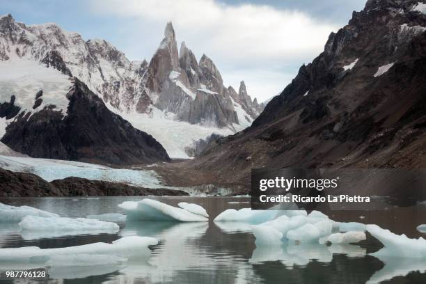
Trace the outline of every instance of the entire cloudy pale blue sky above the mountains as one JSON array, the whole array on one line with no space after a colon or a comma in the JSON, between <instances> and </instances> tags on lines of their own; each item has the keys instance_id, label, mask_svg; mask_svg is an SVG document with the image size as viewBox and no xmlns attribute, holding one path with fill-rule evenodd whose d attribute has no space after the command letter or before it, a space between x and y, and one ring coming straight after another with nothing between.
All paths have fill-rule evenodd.
<instances>
[{"instance_id":1,"label":"entire cloudy pale blue sky above the mountains","mask_svg":"<svg viewBox=\"0 0 426 284\"><path fill-rule=\"evenodd\" d=\"M207 54L224 83L260 102L278 94L324 49L365 0L1 0L0 15L56 22L84 39L102 38L131 60L150 60L172 21L199 59Z\"/></svg>"}]
</instances>

